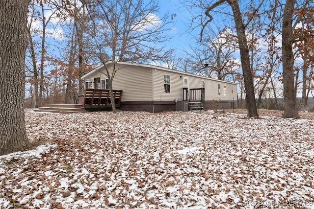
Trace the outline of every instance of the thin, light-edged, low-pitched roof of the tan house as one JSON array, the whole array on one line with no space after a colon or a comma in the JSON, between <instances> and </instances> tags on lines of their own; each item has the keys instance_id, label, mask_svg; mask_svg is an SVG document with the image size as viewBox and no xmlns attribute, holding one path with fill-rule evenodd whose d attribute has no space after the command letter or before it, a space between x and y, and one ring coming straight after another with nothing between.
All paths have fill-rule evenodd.
<instances>
[{"instance_id":1,"label":"thin, light-edged, low-pitched roof of the tan house","mask_svg":"<svg viewBox=\"0 0 314 209\"><path fill-rule=\"evenodd\" d=\"M110 65L110 64L112 64L112 62L108 61L105 64L106 65ZM205 78L205 79L219 81L219 82L223 82L223 83L235 84L235 83L229 82L229 81L218 80L216 78L209 78L209 77L205 77L205 76L202 76L202 75L196 75L196 74L192 74L192 73L188 73L188 72L183 72L183 71L180 71L180 70L171 70L171 69L167 69L167 68L158 67L158 66L155 66L155 65L130 63L130 62L117 62L117 64L118 65L126 65L126 66L138 66L138 67L143 67L143 68L148 68L148 69L164 70L164 71L169 71L169 72L175 72L175 73L178 73L178 74L181 74L181 75L195 76L195 77L199 77L199 78L203 78L203 79ZM85 79L87 76L89 76L90 74L93 74L97 70L102 69L103 67L104 67L104 65L98 66L94 70L91 70L90 72L88 72L85 75L83 75L81 77L81 79Z\"/></svg>"}]
</instances>

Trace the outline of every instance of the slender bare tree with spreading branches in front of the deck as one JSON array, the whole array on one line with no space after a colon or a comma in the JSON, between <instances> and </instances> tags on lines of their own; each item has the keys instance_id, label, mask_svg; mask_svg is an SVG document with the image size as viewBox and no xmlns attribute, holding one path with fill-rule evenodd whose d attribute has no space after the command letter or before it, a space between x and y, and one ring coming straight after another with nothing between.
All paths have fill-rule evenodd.
<instances>
[{"instance_id":1,"label":"slender bare tree with spreading branches in front of the deck","mask_svg":"<svg viewBox=\"0 0 314 209\"><path fill-rule=\"evenodd\" d=\"M168 15L159 18L156 0L96 0L96 6L87 5L92 24L89 25L90 50L105 68L108 79L112 111L115 113L113 79L119 70L117 62L143 63L159 60L163 48L157 47L168 39L164 32L169 28ZM112 68L107 68L107 63Z\"/></svg>"}]
</instances>

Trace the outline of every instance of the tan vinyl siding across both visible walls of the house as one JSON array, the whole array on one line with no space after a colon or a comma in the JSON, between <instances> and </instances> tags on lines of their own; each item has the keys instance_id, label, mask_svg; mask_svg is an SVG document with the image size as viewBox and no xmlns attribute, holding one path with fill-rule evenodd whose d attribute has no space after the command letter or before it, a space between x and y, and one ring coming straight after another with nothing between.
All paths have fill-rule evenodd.
<instances>
[{"instance_id":1,"label":"tan vinyl siding across both visible walls of the house","mask_svg":"<svg viewBox=\"0 0 314 209\"><path fill-rule=\"evenodd\" d=\"M230 101L237 98L237 86L234 83L148 65L119 64L117 66L120 70L113 79L113 89L123 90L122 101L174 101L176 98L182 100L184 78L188 78L189 89L202 88L202 81L204 81L206 101ZM105 79L103 70L104 67L86 74L84 81L94 82L96 77ZM170 93L164 92L164 75L170 76ZM220 95L218 95L218 84L221 86ZM226 95L224 95L224 85L226 85Z\"/></svg>"}]
</instances>

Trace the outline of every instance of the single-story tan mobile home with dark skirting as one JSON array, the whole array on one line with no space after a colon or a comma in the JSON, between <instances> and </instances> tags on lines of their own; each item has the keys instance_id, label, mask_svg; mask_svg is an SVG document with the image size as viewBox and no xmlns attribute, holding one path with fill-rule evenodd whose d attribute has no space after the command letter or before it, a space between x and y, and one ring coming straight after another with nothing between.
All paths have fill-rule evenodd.
<instances>
[{"instance_id":1,"label":"single-story tan mobile home with dark skirting","mask_svg":"<svg viewBox=\"0 0 314 209\"><path fill-rule=\"evenodd\" d=\"M113 63L106 67L112 71ZM123 91L120 110L157 113L176 110L178 102L189 100L201 100L205 109L232 108L237 101L232 82L147 64L118 62L116 69L112 85ZM81 78L85 89L108 89L104 65Z\"/></svg>"}]
</instances>

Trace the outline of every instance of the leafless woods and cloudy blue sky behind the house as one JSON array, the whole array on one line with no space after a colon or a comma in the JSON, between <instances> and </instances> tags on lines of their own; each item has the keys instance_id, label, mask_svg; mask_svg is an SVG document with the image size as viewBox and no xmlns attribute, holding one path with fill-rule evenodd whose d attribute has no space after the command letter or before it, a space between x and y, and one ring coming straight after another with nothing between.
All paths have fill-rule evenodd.
<instances>
[{"instance_id":1,"label":"leafless woods and cloudy blue sky behind the house","mask_svg":"<svg viewBox=\"0 0 314 209\"><path fill-rule=\"evenodd\" d=\"M313 1L287 2L291 3L182 1L181 11L190 14L184 32L190 34L190 46L182 52L171 47L169 32L181 14L160 13L165 10L161 8L163 1L31 0L26 107L69 103L67 92L81 93L83 89L80 76L111 60L157 64L203 75L204 64L209 63L209 76L238 83L240 107L248 103L283 109L278 98L284 93L288 98L291 92L290 97L301 97L294 101L298 110L312 109L308 98L313 96L314 86ZM285 17L290 23L286 33ZM199 35L193 35L195 31ZM291 48L288 57L285 43L288 50ZM288 92L283 86L285 75L289 75ZM109 77L114 82L114 75Z\"/></svg>"}]
</instances>

